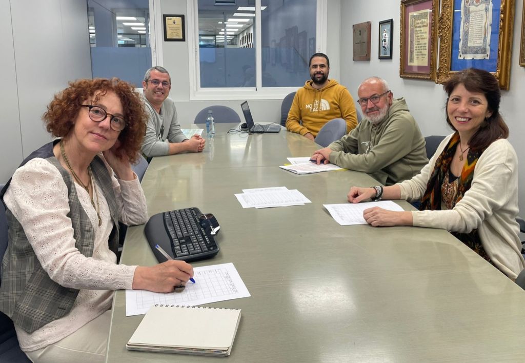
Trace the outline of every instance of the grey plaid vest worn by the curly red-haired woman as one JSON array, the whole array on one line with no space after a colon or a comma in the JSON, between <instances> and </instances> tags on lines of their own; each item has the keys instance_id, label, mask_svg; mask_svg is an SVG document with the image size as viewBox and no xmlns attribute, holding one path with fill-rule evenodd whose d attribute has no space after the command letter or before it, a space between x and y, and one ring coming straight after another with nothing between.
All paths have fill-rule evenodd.
<instances>
[{"instance_id":1,"label":"grey plaid vest worn by the curly red-haired woman","mask_svg":"<svg viewBox=\"0 0 525 363\"><path fill-rule=\"evenodd\" d=\"M31 153L20 164L20 167L31 159L42 158L55 165L60 171L68 189L70 209L68 217L71 219L74 231L75 247L81 254L91 257L95 244L95 230L78 200L77 190L71 175L60 165L53 154L53 146L58 141L45 144ZM111 177L106 165L98 156L91 162L91 171L109 205L113 221L109 248L116 253L119 241L119 214ZM2 201L9 183L10 180L0 192ZM71 310L79 290L61 286L51 280L27 241L22 225L8 209L6 209L6 215L9 226L9 245L2 260L0 310L9 316L16 326L28 333L33 333L51 321L66 315Z\"/></svg>"}]
</instances>

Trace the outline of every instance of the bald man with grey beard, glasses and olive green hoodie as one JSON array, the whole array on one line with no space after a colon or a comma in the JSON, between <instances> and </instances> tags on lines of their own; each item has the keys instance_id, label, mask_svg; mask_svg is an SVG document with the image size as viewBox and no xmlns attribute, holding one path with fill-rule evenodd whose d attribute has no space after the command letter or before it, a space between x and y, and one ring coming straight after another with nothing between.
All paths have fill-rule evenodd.
<instances>
[{"instance_id":1,"label":"bald man with grey beard, glasses and olive green hoodie","mask_svg":"<svg viewBox=\"0 0 525 363\"><path fill-rule=\"evenodd\" d=\"M363 120L342 139L314 152L312 160L365 172L383 185L411 179L428 159L425 139L405 99L394 99L379 77L365 79L358 96Z\"/></svg>"}]
</instances>

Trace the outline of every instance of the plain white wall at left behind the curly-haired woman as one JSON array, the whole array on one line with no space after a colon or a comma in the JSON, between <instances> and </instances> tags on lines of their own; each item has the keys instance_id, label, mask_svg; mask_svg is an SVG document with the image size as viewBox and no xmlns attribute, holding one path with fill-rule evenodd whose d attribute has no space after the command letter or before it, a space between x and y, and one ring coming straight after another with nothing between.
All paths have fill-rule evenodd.
<instances>
[{"instance_id":1,"label":"plain white wall at left behind the curly-haired woman","mask_svg":"<svg viewBox=\"0 0 525 363\"><path fill-rule=\"evenodd\" d=\"M38 22L28 21L28 9ZM41 116L53 95L70 80L91 78L87 23L86 2L0 0L0 182L51 140Z\"/></svg>"}]
</instances>

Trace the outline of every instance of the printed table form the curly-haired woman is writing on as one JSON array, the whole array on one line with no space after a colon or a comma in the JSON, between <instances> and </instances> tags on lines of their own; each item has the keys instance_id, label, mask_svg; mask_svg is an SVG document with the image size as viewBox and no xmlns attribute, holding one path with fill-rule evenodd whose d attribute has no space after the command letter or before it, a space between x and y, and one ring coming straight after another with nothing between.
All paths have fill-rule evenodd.
<instances>
[{"instance_id":1,"label":"printed table form the curly-haired woman is writing on","mask_svg":"<svg viewBox=\"0 0 525 363\"><path fill-rule=\"evenodd\" d=\"M251 296L233 263L195 267L195 284L167 294L126 290L126 316L145 314L155 304L201 305Z\"/></svg>"}]
</instances>

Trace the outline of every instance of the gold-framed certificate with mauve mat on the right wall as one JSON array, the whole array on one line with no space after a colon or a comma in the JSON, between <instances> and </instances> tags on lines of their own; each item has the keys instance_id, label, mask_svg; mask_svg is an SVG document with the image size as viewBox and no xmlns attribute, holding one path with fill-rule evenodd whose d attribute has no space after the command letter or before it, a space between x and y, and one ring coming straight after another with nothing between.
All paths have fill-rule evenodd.
<instances>
[{"instance_id":1,"label":"gold-framed certificate with mauve mat on the right wall","mask_svg":"<svg viewBox=\"0 0 525 363\"><path fill-rule=\"evenodd\" d=\"M435 79L438 10L439 0L401 0L400 77Z\"/></svg>"}]
</instances>

